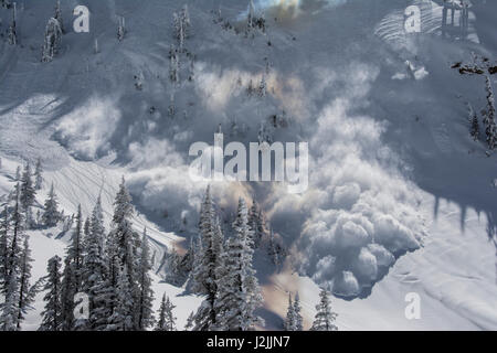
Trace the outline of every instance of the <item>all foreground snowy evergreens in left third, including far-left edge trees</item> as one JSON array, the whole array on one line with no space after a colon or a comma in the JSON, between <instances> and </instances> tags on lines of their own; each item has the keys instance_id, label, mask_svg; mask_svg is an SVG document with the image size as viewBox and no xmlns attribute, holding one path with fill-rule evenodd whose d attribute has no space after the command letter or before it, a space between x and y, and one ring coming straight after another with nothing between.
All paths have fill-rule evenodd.
<instances>
[{"instance_id":1,"label":"all foreground snowy evergreens in left third, including far-left edge trees","mask_svg":"<svg viewBox=\"0 0 497 353\"><path fill-rule=\"evenodd\" d=\"M41 173L41 163L36 170ZM31 227L30 208L43 178L32 175L29 163L19 172L19 181L4 206L0 222L0 330L21 328L34 296L45 291L42 312L43 331L70 330L147 330L155 324L152 315L151 258L146 232L134 229L131 199L125 183L114 203L113 227L106 233L98 199L91 217L83 220L81 206L64 260L49 260L47 275L31 284L31 252L25 231ZM35 178L33 183L32 176ZM45 202L43 222L55 226L61 220L53 185ZM87 317L77 314L82 295L88 298ZM167 301L157 329L173 328L173 306Z\"/></svg>"}]
</instances>

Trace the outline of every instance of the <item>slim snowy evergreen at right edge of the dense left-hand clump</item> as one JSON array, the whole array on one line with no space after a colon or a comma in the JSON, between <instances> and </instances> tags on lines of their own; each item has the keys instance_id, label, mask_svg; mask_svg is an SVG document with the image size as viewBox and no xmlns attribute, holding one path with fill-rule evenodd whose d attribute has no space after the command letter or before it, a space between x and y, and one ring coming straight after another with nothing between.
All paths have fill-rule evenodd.
<instances>
[{"instance_id":1,"label":"slim snowy evergreen at right edge of the dense left-hand clump","mask_svg":"<svg viewBox=\"0 0 497 353\"><path fill-rule=\"evenodd\" d=\"M150 249L148 246L147 231L144 231L141 237L141 248L138 261L138 330L147 330L154 323L154 290L151 289L150 278Z\"/></svg>"}]
</instances>

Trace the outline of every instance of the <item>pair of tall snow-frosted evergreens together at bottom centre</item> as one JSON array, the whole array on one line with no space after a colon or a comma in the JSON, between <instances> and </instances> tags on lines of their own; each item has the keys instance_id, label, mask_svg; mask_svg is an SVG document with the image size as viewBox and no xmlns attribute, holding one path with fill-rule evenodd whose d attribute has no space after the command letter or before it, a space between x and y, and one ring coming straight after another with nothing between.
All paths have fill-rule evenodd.
<instances>
[{"instance_id":1,"label":"pair of tall snow-frosted evergreens together at bottom centre","mask_svg":"<svg viewBox=\"0 0 497 353\"><path fill-rule=\"evenodd\" d=\"M193 331L247 331L262 323L255 314L262 295L252 264L256 238L242 199L232 227L233 235L224 239L208 188L190 276L192 290L205 299L190 317Z\"/></svg>"}]
</instances>

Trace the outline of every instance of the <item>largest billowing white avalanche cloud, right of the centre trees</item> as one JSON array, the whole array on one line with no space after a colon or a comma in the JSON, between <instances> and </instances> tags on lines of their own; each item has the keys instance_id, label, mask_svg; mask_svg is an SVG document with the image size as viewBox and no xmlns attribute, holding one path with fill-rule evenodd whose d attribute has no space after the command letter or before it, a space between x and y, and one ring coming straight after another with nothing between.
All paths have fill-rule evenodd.
<instances>
[{"instance_id":1,"label":"largest billowing white avalanche cloud, right of the centre trees","mask_svg":"<svg viewBox=\"0 0 497 353\"><path fill-rule=\"evenodd\" d=\"M271 200L277 225L304 220L296 246L300 270L345 297L367 291L395 257L421 246L424 232L419 191L382 143L385 125L352 113L367 110L377 75L376 67L355 63L335 76L343 86L316 121L309 191L300 196L275 192Z\"/></svg>"}]
</instances>

